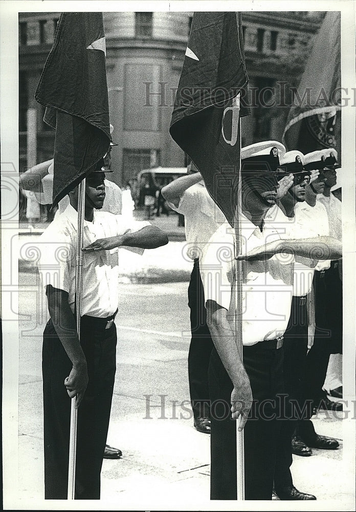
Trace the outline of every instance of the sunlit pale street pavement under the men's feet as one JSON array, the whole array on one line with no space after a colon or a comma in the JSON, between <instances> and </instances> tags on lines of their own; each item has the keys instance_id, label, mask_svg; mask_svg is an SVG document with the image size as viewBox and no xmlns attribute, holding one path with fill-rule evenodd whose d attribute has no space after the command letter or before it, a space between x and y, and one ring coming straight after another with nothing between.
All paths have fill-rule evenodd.
<instances>
[{"instance_id":1,"label":"sunlit pale street pavement under the men's feet","mask_svg":"<svg viewBox=\"0 0 356 512\"><path fill-rule=\"evenodd\" d=\"M175 252L173 244L166 247ZM141 258L151 252L153 259L163 261L164 249L146 251ZM19 273L18 497L27 509L43 496L41 335L48 315L37 280L34 271ZM123 456L103 462L100 509L217 509L208 501L210 436L195 431L189 406L187 287L187 280L128 280L121 285L117 376L107 442L120 448ZM326 412L313 420L318 433L340 440L340 449L314 450L308 458L294 456L292 467L298 489L331 501L313 502L313 508L298 508L302 503L280 507L275 502L274 508L354 509L354 470L343 451L341 416ZM234 510L236 503L224 502L224 507ZM91 508L83 504L83 509Z\"/></svg>"}]
</instances>

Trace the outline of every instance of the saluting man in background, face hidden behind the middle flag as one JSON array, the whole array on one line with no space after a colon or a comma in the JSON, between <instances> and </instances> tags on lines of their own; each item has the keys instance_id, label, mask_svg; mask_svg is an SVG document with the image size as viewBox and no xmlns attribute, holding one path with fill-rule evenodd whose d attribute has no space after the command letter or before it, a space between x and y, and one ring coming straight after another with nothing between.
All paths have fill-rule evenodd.
<instances>
[{"instance_id":1,"label":"saluting man in background, face hidden behind the middle flag","mask_svg":"<svg viewBox=\"0 0 356 512\"><path fill-rule=\"evenodd\" d=\"M188 377L194 426L210 434L210 398L208 368L213 342L207 326L204 289L199 273L199 256L218 226L226 221L210 197L197 168L191 162L187 176L162 188L169 206L185 218L186 256L194 261L188 287L191 342L188 354Z\"/></svg>"}]
</instances>

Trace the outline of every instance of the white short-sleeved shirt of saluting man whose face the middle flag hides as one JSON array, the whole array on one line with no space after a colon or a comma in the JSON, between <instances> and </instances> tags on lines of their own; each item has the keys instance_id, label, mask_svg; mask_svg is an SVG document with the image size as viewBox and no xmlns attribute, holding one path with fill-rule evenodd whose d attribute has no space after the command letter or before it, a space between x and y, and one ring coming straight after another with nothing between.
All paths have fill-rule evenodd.
<instances>
[{"instance_id":1,"label":"white short-sleeved shirt of saluting man whose face the middle flag hides","mask_svg":"<svg viewBox=\"0 0 356 512\"><path fill-rule=\"evenodd\" d=\"M225 215L212 200L203 183L196 183L187 188L178 206L168 204L185 217L185 251L188 258L199 258L212 234L226 222Z\"/></svg>"}]
</instances>

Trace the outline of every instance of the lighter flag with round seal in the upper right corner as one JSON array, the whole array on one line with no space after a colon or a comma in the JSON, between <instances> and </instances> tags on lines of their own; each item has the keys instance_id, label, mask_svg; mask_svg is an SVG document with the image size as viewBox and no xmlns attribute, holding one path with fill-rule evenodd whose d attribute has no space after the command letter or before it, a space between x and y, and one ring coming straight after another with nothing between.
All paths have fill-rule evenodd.
<instances>
[{"instance_id":1,"label":"lighter flag with round seal in the upper right corner","mask_svg":"<svg viewBox=\"0 0 356 512\"><path fill-rule=\"evenodd\" d=\"M283 142L306 154L341 145L340 12L327 12L288 115Z\"/></svg>"}]
</instances>

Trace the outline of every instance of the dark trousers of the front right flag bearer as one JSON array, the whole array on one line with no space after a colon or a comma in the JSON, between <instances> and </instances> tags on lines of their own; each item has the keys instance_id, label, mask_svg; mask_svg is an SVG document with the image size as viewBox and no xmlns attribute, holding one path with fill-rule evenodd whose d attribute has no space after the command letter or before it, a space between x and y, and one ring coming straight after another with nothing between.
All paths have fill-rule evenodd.
<instances>
[{"instance_id":1,"label":"dark trousers of the front right flag bearer","mask_svg":"<svg viewBox=\"0 0 356 512\"><path fill-rule=\"evenodd\" d=\"M274 344L275 347L275 344ZM244 427L246 500L271 500L283 394L283 349L271 342L243 347L253 404ZM231 418L232 382L213 349L209 365L211 399L210 499L236 500L236 420Z\"/></svg>"}]
</instances>

